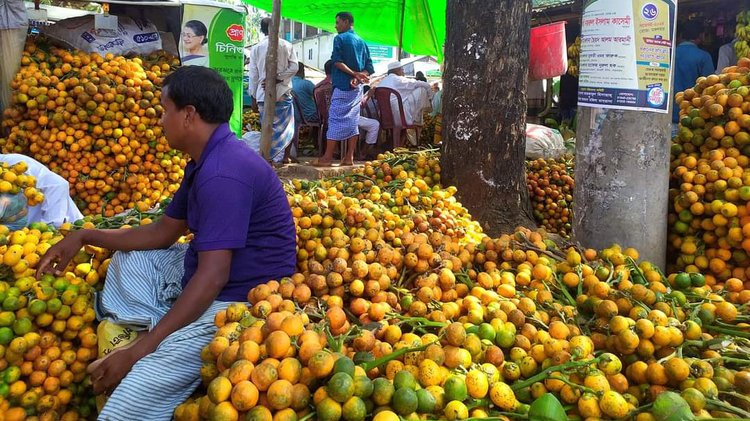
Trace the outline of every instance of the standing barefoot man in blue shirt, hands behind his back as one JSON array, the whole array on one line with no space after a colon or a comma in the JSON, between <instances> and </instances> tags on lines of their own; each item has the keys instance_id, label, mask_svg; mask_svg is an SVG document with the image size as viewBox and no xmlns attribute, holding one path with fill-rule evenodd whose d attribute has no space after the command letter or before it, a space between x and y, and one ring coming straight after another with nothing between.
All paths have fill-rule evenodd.
<instances>
[{"instance_id":1,"label":"standing barefoot man in blue shirt, hands behind his back","mask_svg":"<svg viewBox=\"0 0 750 421\"><path fill-rule=\"evenodd\" d=\"M362 102L362 84L369 82L375 72L367 44L358 37L352 25L354 17L349 12L336 15L336 31L333 39L334 62L331 81L333 94L328 112L328 142L325 154L316 166L330 167L336 144L348 142L346 154L341 156L341 165L354 163L354 149L359 138L359 112Z\"/></svg>"}]
</instances>

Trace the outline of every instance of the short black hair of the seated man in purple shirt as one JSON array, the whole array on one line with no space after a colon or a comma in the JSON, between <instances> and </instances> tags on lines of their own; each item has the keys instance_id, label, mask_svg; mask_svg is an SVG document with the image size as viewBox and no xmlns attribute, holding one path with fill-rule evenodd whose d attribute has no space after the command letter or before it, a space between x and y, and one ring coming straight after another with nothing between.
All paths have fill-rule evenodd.
<instances>
[{"instance_id":1,"label":"short black hair of the seated man in purple shirt","mask_svg":"<svg viewBox=\"0 0 750 421\"><path fill-rule=\"evenodd\" d=\"M208 67L180 67L164 78L162 89L178 109L192 105L206 123L226 123L234 111L227 81Z\"/></svg>"}]
</instances>

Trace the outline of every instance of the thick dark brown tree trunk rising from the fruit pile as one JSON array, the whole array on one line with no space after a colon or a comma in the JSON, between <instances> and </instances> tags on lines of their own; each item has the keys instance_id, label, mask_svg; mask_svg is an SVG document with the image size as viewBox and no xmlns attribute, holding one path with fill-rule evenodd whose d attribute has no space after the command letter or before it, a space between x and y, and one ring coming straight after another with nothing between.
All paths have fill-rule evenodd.
<instances>
[{"instance_id":1,"label":"thick dark brown tree trunk rising from the fruit pile","mask_svg":"<svg viewBox=\"0 0 750 421\"><path fill-rule=\"evenodd\" d=\"M530 0L448 0L444 184L490 235L534 227L526 187Z\"/></svg>"}]
</instances>

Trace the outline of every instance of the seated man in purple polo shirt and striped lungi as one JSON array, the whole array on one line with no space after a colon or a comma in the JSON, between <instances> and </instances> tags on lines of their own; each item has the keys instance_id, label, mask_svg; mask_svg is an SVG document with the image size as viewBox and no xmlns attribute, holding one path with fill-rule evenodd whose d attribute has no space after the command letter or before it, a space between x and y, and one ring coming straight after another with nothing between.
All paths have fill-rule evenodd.
<instances>
[{"instance_id":1,"label":"seated man in purple polo shirt and striped lungi","mask_svg":"<svg viewBox=\"0 0 750 421\"><path fill-rule=\"evenodd\" d=\"M40 275L61 274L84 244L119 250L97 315L145 332L89 367L94 391L111 394L100 419L171 419L200 383L214 315L295 268L286 194L273 169L229 130L224 79L205 67L180 68L164 79L162 105L169 145L192 157L166 214L129 230L73 232L39 264ZM193 241L174 245L187 229Z\"/></svg>"}]
</instances>

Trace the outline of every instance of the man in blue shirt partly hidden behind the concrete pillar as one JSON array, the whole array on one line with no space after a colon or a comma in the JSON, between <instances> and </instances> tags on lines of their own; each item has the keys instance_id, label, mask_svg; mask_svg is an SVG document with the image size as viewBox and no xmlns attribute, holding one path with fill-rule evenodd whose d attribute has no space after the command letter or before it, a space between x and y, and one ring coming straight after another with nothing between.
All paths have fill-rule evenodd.
<instances>
[{"instance_id":1,"label":"man in blue shirt partly hidden behind the concrete pillar","mask_svg":"<svg viewBox=\"0 0 750 421\"><path fill-rule=\"evenodd\" d=\"M675 50L674 58L674 94L695 86L695 80L714 72L711 55L698 48L701 27L698 22L687 21L677 27L680 44ZM680 121L680 104L674 104L672 110L672 131L676 132Z\"/></svg>"}]
</instances>

